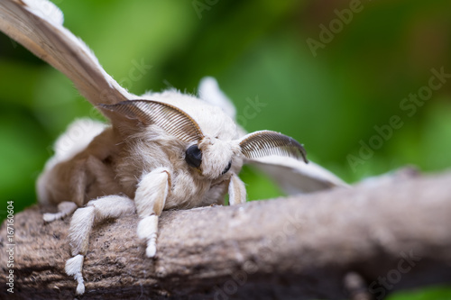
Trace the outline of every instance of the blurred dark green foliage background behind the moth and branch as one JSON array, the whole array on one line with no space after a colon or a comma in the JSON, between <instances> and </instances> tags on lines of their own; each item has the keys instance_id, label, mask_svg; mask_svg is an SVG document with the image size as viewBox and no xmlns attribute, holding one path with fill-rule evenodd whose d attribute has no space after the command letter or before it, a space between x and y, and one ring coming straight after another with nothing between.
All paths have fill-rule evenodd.
<instances>
[{"instance_id":1,"label":"blurred dark green foliage background behind the moth and branch","mask_svg":"<svg viewBox=\"0 0 451 300\"><path fill-rule=\"evenodd\" d=\"M363 1L315 53L308 39L320 42L320 25L339 25L336 10L355 0L54 2L65 25L131 92L174 86L196 93L201 77L216 77L238 115L248 99L265 105L241 118L246 130L296 138L309 159L348 182L408 164L425 172L451 166L451 82L415 114L400 108L428 86L431 68L451 73L448 0ZM136 64L152 68L139 74ZM34 181L52 141L90 109L66 77L0 33L0 194L14 200L16 212L36 202ZM400 129L370 159L351 165L349 155L359 158L361 143L378 134L374 126L393 115ZM251 200L281 195L251 168L242 177ZM451 298L441 291L434 293Z\"/></svg>"}]
</instances>

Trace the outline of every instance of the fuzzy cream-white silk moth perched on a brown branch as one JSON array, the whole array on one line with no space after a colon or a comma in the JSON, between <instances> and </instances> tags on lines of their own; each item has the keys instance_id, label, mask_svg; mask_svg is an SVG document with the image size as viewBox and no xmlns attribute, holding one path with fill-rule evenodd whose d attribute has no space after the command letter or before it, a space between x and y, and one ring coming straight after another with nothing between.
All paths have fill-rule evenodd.
<instances>
[{"instance_id":1,"label":"fuzzy cream-white silk moth perched on a brown branch","mask_svg":"<svg viewBox=\"0 0 451 300\"><path fill-rule=\"evenodd\" d=\"M81 120L61 139L86 127L82 141L46 163L37 180L41 204L58 205L46 222L72 214L71 258L65 270L78 295L85 292L83 260L95 223L136 214L145 254L156 254L158 218L165 209L246 201L238 173L253 164L290 194L345 183L309 162L298 141L279 132L246 134L235 107L207 77L198 96L176 90L133 95L106 74L87 46L63 27L63 14L47 0L2 0L0 30L65 74L109 124Z\"/></svg>"}]
</instances>

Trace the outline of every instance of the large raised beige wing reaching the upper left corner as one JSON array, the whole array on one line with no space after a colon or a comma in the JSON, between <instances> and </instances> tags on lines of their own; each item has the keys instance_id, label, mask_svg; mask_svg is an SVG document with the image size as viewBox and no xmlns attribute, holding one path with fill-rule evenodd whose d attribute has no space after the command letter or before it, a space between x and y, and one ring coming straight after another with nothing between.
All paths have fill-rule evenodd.
<instances>
[{"instance_id":1,"label":"large raised beige wing reaching the upper left corner","mask_svg":"<svg viewBox=\"0 0 451 300\"><path fill-rule=\"evenodd\" d=\"M60 70L93 105L136 96L106 74L87 45L63 27L63 14L47 0L1 0L0 31Z\"/></svg>"}]
</instances>

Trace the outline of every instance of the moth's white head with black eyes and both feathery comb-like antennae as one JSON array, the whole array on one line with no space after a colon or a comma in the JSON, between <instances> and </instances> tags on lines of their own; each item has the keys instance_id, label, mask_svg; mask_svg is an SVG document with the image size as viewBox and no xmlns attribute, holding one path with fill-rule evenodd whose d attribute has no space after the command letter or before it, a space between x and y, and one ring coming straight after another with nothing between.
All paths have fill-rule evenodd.
<instances>
[{"instance_id":1,"label":"moth's white head with black eyes and both feathery comb-like antennae","mask_svg":"<svg viewBox=\"0 0 451 300\"><path fill-rule=\"evenodd\" d=\"M240 140L224 141L204 134L189 114L166 103L130 100L100 107L137 120L146 126L156 125L182 141L181 144L185 147L182 156L187 166L210 179L225 175L231 168L241 168L243 159L277 155L303 159L307 162L302 145L279 132L253 132Z\"/></svg>"}]
</instances>

